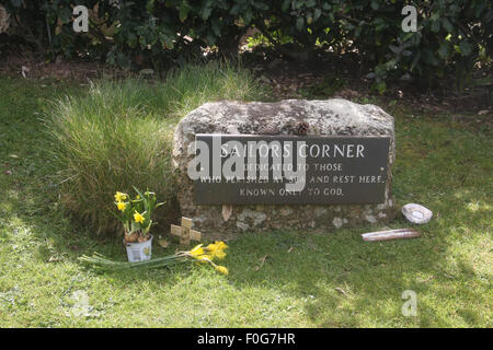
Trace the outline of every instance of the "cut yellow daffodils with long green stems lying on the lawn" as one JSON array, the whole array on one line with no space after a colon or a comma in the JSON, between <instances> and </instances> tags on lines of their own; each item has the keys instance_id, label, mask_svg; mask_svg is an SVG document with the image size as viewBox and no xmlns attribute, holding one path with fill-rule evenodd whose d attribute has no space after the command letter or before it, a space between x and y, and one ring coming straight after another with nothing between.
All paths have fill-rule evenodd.
<instances>
[{"instance_id":1,"label":"cut yellow daffodils with long green stems lying on the lawn","mask_svg":"<svg viewBox=\"0 0 493 350\"><path fill-rule=\"evenodd\" d=\"M227 248L228 246L225 242L215 242L206 247L204 247L203 244L199 244L191 250L176 252L173 255L138 262L113 261L96 253L91 257L83 255L79 259L99 270L160 268L169 267L177 262L196 261L200 264L210 264L219 273L228 275L228 268L214 262L214 260L222 260L226 257L225 250Z\"/></svg>"}]
</instances>

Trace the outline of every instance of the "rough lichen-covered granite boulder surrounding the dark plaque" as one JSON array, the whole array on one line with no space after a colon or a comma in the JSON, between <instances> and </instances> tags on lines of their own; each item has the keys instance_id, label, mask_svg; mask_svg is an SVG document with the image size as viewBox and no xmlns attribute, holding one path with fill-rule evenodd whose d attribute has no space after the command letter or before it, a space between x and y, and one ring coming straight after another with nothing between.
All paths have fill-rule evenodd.
<instances>
[{"instance_id":1,"label":"rough lichen-covered granite boulder surrounding the dark plaque","mask_svg":"<svg viewBox=\"0 0 493 350\"><path fill-rule=\"evenodd\" d=\"M306 121L308 135L390 137L385 201L375 205L232 205L225 221L221 206L193 203L193 182L187 176L188 144L197 133L293 135L294 125ZM394 161L393 118L375 105L346 100L286 100L276 103L221 101L191 112L174 132L173 165L177 199L184 217L207 238L234 237L242 232L274 229L336 230L360 223L386 222L394 214L391 166ZM229 208L226 208L229 209ZM226 210L228 212L228 210Z\"/></svg>"}]
</instances>

